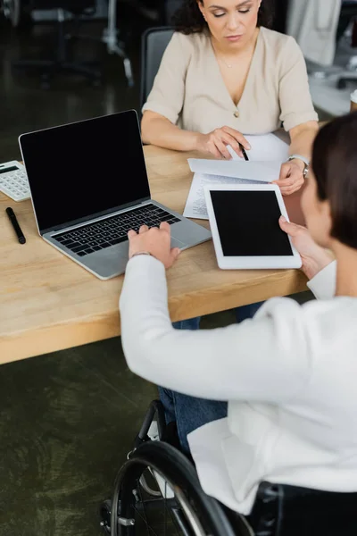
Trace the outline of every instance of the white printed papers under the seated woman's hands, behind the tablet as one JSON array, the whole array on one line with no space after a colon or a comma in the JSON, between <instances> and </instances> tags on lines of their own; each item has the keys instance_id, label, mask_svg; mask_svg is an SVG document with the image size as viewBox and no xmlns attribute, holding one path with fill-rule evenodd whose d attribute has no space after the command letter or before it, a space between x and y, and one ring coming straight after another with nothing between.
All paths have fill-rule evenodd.
<instances>
[{"instance_id":1,"label":"white printed papers under the seated woman's hands, behind the tablet","mask_svg":"<svg viewBox=\"0 0 357 536\"><path fill-rule=\"evenodd\" d=\"M189 158L194 178L187 197L184 216L208 220L203 187L206 184L258 183L278 180L281 163L288 156L287 144L274 134L245 136L252 149L247 151L249 162L242 160L228 146L232 160Z\"/></svg>"}]
</instances>

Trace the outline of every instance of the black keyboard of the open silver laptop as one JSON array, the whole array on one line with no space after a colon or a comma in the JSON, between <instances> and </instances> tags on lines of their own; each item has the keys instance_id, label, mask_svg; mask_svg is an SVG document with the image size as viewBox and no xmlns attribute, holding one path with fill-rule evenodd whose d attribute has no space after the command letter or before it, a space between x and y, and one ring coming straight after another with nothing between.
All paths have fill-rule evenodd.
<instances>
[{"instance_id":1,"label":"black keyboard of the open silver laptop","mask_svg":"<svg viewBox=\"0 0 357 536\"><path fill-rule=\"evenodd\" d=\"M145 205L100 222L68 230L52 238L71 249L73 253L84 256L128 240L130 229L138 231L141 225L158 227L161 222L168 222L171 225L180 220L159 206Z\"/></svg>"}]
</instances>

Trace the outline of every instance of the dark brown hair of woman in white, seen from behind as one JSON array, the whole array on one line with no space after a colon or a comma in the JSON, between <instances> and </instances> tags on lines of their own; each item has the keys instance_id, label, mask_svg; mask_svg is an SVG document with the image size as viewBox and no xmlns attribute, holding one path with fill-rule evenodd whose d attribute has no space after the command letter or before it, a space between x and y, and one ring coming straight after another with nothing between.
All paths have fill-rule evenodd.
<instances>
[{"instance_id":1,"label":"dark brown hair of woman in white, seen from behind","mask_svg":"<svg viewBox=\"0 0 357 536\"><path fill-rule=\"evenodd\" d=\"M311 166L320 201L331 206L331 236L357 249L357 112L328 122L315 138Z\"/></svg>"}]
</instances>

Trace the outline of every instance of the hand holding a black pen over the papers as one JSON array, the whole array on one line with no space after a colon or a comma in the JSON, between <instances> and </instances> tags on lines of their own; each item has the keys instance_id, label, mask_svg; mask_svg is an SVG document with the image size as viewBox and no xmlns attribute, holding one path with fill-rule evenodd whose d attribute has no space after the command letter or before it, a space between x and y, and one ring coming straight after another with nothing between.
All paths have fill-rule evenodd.
<instances>
[{"instance_id":1,"label":"hand holding a black pen over the papers","mask_svg":"<svg viewBox=\"0 0 357 536\"><path fill-rule=\"evenodd\" d=\"M238 156L244 158L241 144L245 149L249 150L251 146L240 132L230 127L222 127L221 129L212 130L208 134L199 134L197 138L197 150L202 153L209 153L216 158L224 158L231 160L227 146L229 145L237 153Z\"/></svg>"}]
</instances>

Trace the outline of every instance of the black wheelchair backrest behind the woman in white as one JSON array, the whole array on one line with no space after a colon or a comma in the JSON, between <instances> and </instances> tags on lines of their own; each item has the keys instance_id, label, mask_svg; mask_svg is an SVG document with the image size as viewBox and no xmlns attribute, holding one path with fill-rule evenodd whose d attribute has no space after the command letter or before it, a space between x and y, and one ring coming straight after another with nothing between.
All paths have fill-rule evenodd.
<instances>
[{"instance_id":1,"label":"black wheelchair backrest behind the woman in white","mask_svg":"<svg viewBox=\"0 0 357 536\"><path fill-rule=\"evenodd\" d=\"M255 536L357 534L357 493L262 482L249 522Z\"/></svg>"}]
</instances>

